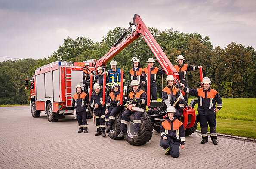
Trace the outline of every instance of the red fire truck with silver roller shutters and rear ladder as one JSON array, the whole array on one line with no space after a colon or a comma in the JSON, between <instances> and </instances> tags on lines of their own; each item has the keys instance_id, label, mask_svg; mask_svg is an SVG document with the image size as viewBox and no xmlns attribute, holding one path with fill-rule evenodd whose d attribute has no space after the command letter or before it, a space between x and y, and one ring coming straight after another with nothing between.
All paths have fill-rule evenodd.
<instances>
[{"instance_id":1,"label":"red fire truck with silver roller shutters and rear ladder","mask_svg":"<svg viewBox=\"0 0 256 169\"><path fill-rule=\"evenodd\" d=\"M94 69L95 60L88 60L90 69ZM74 114L72 96L76 92L76 84L82 85L82 72L86 62L56 61L35 70L31 78L30 105L33 117L39 117L45 111L49 122L57 122L66 115ZM26 79L26 88L28 88ZM89 108L90 109L90 108ZM87 110L87 117L92 117L92 111Z\"/></svg>"}]
</instances>

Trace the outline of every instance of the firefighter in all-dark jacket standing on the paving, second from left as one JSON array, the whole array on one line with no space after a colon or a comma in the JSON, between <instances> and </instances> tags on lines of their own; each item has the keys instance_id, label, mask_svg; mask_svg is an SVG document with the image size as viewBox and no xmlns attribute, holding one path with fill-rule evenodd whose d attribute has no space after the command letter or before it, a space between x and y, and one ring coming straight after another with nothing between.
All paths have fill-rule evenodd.
<instances>
[{"instance_id":1,"label":"firefighter in all-dark jacket standing on the paving, second from left","mask_svg":"<svg viewBox=\"0 0 256 169\"><path fill-rule=\"evenodd\" d=\"M95 121L96 121L95 125L97 128L97 133L95 133L95 136L102 135L102 137L106 137L106 133L105 133L105 130L106 130L105 109L106 109L106 107L105 107L105 104L103 104L103 92L102 92L102 89L100 89L100 86L98 83L95 83L93 85L93 89L94 89L94 92L90 97L89 104L91 107L93 107L93 112L94 112Z\"/></svg>"}]
</instances>

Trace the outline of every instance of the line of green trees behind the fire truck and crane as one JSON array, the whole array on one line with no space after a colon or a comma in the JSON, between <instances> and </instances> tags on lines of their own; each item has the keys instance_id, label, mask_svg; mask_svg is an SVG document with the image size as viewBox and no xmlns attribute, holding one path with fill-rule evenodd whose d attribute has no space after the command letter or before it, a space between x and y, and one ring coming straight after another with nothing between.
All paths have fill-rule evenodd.
<instances>
[{"instance_id":1,"label":"line of green trees behind the fire truck and crane","mask_svg":"<svg viewBox=\"0 0 256 169\"><path fill-rule=\"evenodd\" d=\"M204 77L211 79L211 87L216 89L222 98L256 96L256 86L253 85L256 84L256 50L253 47L245 47L234 42L224 48L213 47L208 36L203 38L198 33L180 33L173 29L160 31L157 28L149 28L149 30L173 65L177 64L176 57L179 54L185 57L185 64L202 65ZM44 59L30 58L0 62L0 104L28 104L30 92L25 89L24 80L27 76L34 75L36 68L59 59L73 62L100 59L108 53L124 31L125 28L116 27L108 31L101 42L94 42L83 36L77 39L68 37L56 52ZM130 59L134 56L140 59L142 68L147 66L149 57L154 58L142 36L113 58L117 61L117 68L123 69L126 77L130 77L129 70L133 67ZM161 68L157 61L156 67ZM106 68L110 69L109 64ZM160 97L161 76L158 77L157 85ZM188 72L188 86L197 88L200 87L199 85L199 71Z\"/></svg>"}]
</instances>

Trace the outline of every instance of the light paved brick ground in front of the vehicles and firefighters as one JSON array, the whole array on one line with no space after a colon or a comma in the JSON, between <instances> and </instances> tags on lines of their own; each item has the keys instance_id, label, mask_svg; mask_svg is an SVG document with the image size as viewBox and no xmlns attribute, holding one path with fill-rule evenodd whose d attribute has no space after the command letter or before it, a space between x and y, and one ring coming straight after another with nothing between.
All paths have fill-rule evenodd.
<instances>
[{"instance_id":1,"label":"light paved brick ground in front of the vehicles and firefighters","mask_svg":"<svg viewBox=\"0 0 256 169\"><path fill-rule=\"evenodd\" d=\"M218 137L219 145L201 145L201 136L186 137L185 149L174 159L164 155L160 133L142 146L125 140L77 133L73 116L50 123L33 118L29 106L0 107L0 168L256 168L256 142Z\"/></svg>"}]
</instances>

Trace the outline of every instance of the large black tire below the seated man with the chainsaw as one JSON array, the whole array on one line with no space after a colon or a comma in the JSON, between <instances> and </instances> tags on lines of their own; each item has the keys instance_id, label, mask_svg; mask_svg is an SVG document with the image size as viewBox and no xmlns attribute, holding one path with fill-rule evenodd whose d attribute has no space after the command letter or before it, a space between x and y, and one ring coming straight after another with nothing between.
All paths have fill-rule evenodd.
<instances>
[{"instance_id":1,"label":"large black tire below the seated man with the chainsaw","mask_svg":"<svg viewBox=\"0 0 256 169\"><path fill-rule=\"evenodd\" d=\"M127 142L129 142L131 145L144 145L152 137L153 133L153 126L148 118L148 116L144 113L142 114L141 117L141 125L140 125L140 132L136 138L133 138L133 117L134 115L132 114L130 116L129 122L127 124L127 135L124 136Z\"/></svg>"}]
</instances>

